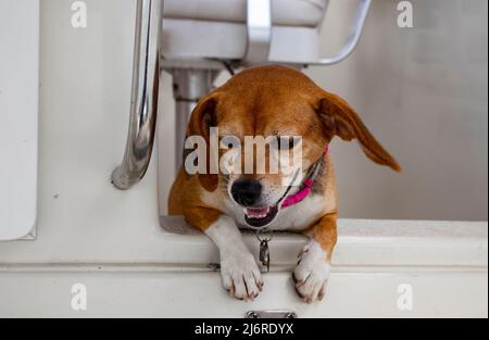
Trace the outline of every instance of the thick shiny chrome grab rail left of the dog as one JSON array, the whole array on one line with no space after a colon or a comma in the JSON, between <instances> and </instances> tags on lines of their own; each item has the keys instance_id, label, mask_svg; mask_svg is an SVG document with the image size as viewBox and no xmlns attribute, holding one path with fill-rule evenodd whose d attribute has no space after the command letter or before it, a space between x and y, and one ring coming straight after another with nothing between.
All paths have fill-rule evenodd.
<instances>
[{"instance_id":1,"label":"thick shiny chrome grab rail left of the dog","mask_svg":"<svg viewBox=\"0 0 489 340\"><path fill-rule=\"evenodd\" d=\"M151 160L158 111L163 0L138 0L129 131L112 184L127 190L145 176Z\"/></svg>"}]
</instances>

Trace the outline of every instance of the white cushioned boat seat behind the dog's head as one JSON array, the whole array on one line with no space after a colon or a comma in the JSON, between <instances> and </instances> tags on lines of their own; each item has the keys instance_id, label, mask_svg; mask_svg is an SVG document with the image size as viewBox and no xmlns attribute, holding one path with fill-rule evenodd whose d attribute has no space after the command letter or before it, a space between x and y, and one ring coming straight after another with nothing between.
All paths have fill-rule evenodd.
<instances>
[{"instance_id":1,"label":"white cushioned boat seat behind the dog's head","mask_svg":"<svg viewBox=\"0 0 489 340\"><path fill-rule=\"evenodd\" d=\"M273 0L268 61L318 60L317 27L327 3L328 0ZM181 60L241 60L247 46L247 0L165 1L163 56L168 64Z\"/></svg>"}]
</instances>

